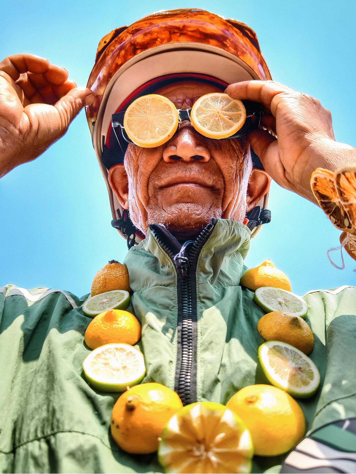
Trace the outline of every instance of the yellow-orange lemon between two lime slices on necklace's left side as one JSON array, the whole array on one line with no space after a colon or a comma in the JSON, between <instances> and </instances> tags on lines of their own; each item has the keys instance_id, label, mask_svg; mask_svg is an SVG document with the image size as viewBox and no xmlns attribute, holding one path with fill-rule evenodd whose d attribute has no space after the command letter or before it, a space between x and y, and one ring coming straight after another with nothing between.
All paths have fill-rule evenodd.
<instances>
[{"instance_id":1,"label":"yellow-orange lemon between two lime slices on necklace's left side","mask_svg":"<svg viewBox=\"0 0 356 474\"><path fill-rule=\"evenodd\" d=\"M104 344L133 346L141 337L141 324L129 311L108 310L98 314L86 328L84 341L91 349Z\"/></svg>"}]
</instances>

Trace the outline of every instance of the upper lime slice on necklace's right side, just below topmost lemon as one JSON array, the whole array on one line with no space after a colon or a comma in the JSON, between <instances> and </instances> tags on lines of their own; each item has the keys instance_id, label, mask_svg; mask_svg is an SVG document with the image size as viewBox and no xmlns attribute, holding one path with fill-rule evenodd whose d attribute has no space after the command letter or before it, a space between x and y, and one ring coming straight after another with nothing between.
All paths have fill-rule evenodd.
<instances>
[{"instance_id":1,"label":"upper lime slice on necklace's right side, just below topmost lemon","mask_svg":"<svg viewBox=\"0 0 356 474\"><path fill-rule=\"evenodd\" d=\"M255 291L253 299L266 313L287 311L303 319L307 317L307 303L300 296L281 290L281 288L262 286Z\"/></svg>"}]
</instances>

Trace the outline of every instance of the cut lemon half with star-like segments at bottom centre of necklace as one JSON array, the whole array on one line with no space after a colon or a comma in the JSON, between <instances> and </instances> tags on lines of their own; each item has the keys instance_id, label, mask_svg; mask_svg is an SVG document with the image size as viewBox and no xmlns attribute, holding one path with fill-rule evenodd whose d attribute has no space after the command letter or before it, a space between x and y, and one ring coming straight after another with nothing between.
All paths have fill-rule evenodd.
<instances>
[{"instance_id":1,"label":"cut lemon half with star-like segments at bottom centre of necklace","mask_svg":"<svg viewBox=\"0 0 356 474\"><path fill-rule=\"evenodd\" d=\"M224 405L187 405L162 431L159 462L166 473L249 473L253 444L243 421Z\"/></svg>"}]
</instances>

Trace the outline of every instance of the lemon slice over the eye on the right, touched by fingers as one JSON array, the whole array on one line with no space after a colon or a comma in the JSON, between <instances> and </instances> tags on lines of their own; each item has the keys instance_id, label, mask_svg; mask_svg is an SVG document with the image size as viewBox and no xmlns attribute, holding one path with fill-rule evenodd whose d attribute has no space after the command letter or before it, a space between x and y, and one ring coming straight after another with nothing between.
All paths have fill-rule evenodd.
<instances>
[{"instance_id":1,"label":"lemon slice over the eye on the right, touched by fingers","mask_svg":"<svg viewBox=\"0 0 356 474\"><path fill-rule=\"evenodd\" d=\"M208 138L228 138L244 125L246 109L241 100L213 92L200 97L190 111L197 132Z\"/></svg>"}]
</instances>

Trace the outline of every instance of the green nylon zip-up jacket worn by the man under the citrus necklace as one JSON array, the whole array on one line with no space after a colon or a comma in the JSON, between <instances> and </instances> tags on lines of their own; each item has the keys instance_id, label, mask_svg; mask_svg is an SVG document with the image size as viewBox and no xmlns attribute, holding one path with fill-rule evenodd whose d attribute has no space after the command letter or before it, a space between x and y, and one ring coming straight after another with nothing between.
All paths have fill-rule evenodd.
<instances>
[{"instance_id":1,"label":"green nylon zip-up jacket worn by the man under the citrus necklace","mask_svg":"<svg viewBox=\"0 0 356 474\"><path fill-rule=\"evenodd\" d=\"M224 404L242 387L266 383L257 356L263 312L239 285L249 244L246 226L219 219L182 251L159 225L131 248L128 310L142 324L143 382L162 383L185 403ZM0 288L1 472L162 472L155 454L116 446L110 416L119 394L84 380L87 296ZM310 357L321 375L314 397L300 401L310 430L356 416L356 288L309 292L304 300L315 340ZM253 472L285 456L255 456Z\"/></svg>"}]
</instances>

